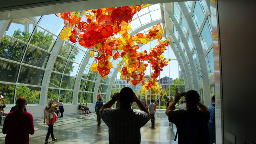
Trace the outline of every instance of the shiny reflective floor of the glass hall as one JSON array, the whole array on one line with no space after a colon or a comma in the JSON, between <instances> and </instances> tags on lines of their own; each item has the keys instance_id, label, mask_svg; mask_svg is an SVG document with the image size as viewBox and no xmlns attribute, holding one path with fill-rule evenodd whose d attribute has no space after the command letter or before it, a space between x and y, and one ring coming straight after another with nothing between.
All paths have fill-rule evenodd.
<instances>
[{"instance_id":1,"label":"shiny reflective floor of the glass hall","mask_svg":"<svg viewBox=\"0 0 256 144\"><path fill-rule=\"evenodd\" d=\"M102 120L101 120L102 121ZM108 127L102 121L97 126L96 113L89 115L69 115L58 118L54 125L54 137L57 141L52 144L108 144ZM151 122L148 121L141 128L141 144L178 144L174 141L176 126L168 122L165 111L158 110L155 116L155 128L150 128ZM48 126L44 126L43 119L34 120L35 133L29 135L30 144L44 143ZM2 125L0 126L2 131ZM5 135L0 133L0 143L4 141ZM51 136L49 138L51 141Z\"/></svg>"}]
</instances>

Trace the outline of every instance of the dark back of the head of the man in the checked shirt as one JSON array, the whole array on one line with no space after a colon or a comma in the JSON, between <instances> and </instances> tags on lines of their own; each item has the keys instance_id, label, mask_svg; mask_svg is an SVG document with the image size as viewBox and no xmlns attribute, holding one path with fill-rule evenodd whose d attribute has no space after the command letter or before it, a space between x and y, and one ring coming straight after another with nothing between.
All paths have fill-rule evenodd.
<instances>
[{"instance_id":1,"label":"dark back of the head of the man in the checked shirt","mask_svg":"<svg viewBox=\"0 0 256 144\"><path fill-rule=\"evenodd\" d=\"M129 87L124 87L121 89L119 94L119 101L123 105L129 105L133 102L133 91Z\"/></svg>"}]
</instances>

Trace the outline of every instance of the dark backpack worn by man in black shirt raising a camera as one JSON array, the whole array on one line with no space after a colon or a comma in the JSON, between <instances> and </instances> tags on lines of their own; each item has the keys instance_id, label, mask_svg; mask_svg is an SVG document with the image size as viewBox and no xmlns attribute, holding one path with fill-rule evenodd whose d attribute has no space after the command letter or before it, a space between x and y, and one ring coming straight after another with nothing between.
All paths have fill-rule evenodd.
<instances>
[{"instance_id":1,"label":"dark backpack worn by man in black shirt raising a camera","mask_svg":"<svg viewBox=\"0 0 256 144\"><path fill-rule=\"evenodd\" d=\"M188 119L184 126L184 137L183 137L184 144L192 144L196 137L200 137L200 139L204 137L206 140L205 144L209 144L210 136L209 136L209 129L208 129L207 123L208 122L206 122L203 119L203 122L201 122L201 124L203 125L203 130L201 131L200 135L197 135L197 133L198 132L200 133L200 131L198 131L196 125L192 123L190 119ZM176 141L177 139L177 134L178 134L178 131L176 132L174 141Z\"/></svg>"}]
</instances>

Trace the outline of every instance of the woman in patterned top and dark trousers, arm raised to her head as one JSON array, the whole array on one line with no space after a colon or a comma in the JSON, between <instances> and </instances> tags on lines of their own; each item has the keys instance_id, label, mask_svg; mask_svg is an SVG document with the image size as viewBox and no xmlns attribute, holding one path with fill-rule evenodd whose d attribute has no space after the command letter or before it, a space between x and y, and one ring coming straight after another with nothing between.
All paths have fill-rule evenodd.
<instances>
[{"instance_id":1,"label":"woman in patterned top and dark trousers, arm raised to her head","mask_svg":"<svg viewBox=\"0 0 256 144\"><path fill-rule=\"evenodd\" d=\"M57 104L52 105L54 100L57 102ZM54 138L54 135L53 135L53 124L54 124L54 122L56 123L57 119L54 118L53 120L51 120L50 113L52 113L54 111L54 109L57 106L59 106L59 104L60 104L60 102L56 99L48 99L47 100L47 106L44 109L44 123L46 122L46 124L48 125L48 131L47 131L45 142L44 142L45 144L50 143L48 141L50 134L52 137L52 141L57 140L57 138Z\"/></svg>"}]
</instances>

